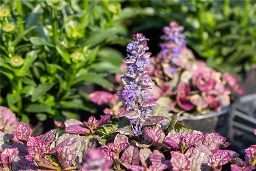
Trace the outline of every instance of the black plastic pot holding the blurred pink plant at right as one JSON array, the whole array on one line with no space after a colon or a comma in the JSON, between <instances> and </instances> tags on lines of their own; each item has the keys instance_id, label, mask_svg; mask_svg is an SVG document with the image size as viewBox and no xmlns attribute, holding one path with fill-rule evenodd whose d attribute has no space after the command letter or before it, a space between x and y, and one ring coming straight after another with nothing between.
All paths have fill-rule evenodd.
<instances>
[{"instance_id":1,"label":"black plastic pot holding the blurred pink plant at right","mask_svg":"<svg viewBox=\"0 0 256 171\"><path fill-rule=\"evenodd\" d=\"M231 107L224 108L220 112L210 112L203 115L191 115L179 117L180 123L192 127L194 130L201 131L204 134L217 132L223 134L228 128L226 120Z\"/></svg>"}]
</instances>

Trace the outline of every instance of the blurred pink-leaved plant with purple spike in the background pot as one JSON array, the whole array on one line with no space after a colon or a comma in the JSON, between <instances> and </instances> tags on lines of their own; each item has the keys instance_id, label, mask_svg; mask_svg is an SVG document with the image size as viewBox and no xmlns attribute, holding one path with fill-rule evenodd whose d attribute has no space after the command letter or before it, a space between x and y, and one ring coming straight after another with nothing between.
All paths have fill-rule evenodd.
<instances>
[{"instance_id":1,"label":"blurred pink-leaved plant with purple spike in the background pot","mask_svg":"<svg viewBox=\"0 0 256 171\"><path fill-rule=\"evenodd\" d=\"M178 46L184 35L177 23L170 22L164 33L168 41L161 44L162 50L152 58L156 85L149 90L160 106L174 113L208 113L228 107L236 93L244 93L236 76L206 66L185 45Z\"/></svg>"}]
</instances>

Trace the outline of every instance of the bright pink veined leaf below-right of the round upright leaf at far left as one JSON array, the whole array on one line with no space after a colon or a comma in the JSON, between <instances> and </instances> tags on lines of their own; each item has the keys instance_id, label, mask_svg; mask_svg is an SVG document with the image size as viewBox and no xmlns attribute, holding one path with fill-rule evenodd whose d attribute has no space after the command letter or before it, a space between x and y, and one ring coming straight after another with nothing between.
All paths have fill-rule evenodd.
<instances>
[{"instance_id":1,"label":"bright pink veined leaf below-right of the round upright leaf at far left","mask_svg":"<svg viewBox=\"0 0 256 171\"><path fill-rule=\"evenodd\" d=\"M40 137L30 137L27 142L27 150L32 158L44 157L44 154L50 151L50 144L42 141Z\"/></svg>"}]
</instances>

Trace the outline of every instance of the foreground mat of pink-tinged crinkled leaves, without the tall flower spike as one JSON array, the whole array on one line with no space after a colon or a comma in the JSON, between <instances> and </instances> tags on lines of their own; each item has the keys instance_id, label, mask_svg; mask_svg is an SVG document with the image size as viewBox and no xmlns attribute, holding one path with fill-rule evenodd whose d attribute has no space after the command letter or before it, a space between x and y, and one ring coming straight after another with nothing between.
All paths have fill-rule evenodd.
<instances>
[{"instance_id":1,"label":"foreground mat of pink-tinged crinkled leaves, without the tall flower spike","mask_svg":"<svg viewBox=\"0 0 256 171\"><path fill-rule=\"evenodd\" d=\"M255 145L245 150L243 161L238 153L223 149L229 143L217 133L203 134L176 121L171 121L167 129L158 123L145 125L138 136L125 116L106 115L100 120L92 117L83 122L69 119L58 125L62 131L51 130L36 137L30 136L27 124L16 123L11 145L0 152L0 167L14 171L196 171L221 170L231 163L233 171L255 168Z\"/></svg>"}]
</instances>

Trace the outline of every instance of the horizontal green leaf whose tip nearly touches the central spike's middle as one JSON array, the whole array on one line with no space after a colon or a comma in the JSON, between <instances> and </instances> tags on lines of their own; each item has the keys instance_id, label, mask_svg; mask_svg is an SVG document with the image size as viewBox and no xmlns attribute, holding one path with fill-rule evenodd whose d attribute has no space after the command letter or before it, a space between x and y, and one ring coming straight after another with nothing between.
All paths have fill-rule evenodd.
<instances>
[{"instance_id":1,"label":"horizontal green leaf whose tip nearly touches the central spike's middle","mask_svg":"<svg viewBox=\"0 0 256 171\"><path fill-rule=\"evenodd\" d=\"M119 66L113 65L112 63L105 62L105 61L92 64L88 68L94 69L94 70L96 70L98 72L108 72L110 74L123 73L124 72L122 69L120 69Z\"/></svg>"}]
</instances>

